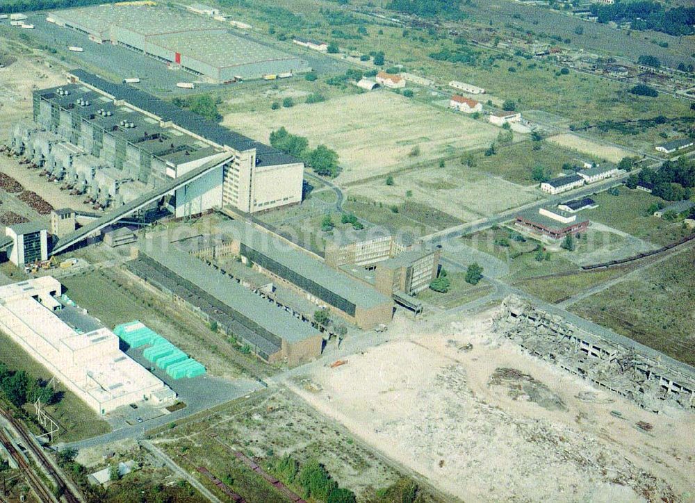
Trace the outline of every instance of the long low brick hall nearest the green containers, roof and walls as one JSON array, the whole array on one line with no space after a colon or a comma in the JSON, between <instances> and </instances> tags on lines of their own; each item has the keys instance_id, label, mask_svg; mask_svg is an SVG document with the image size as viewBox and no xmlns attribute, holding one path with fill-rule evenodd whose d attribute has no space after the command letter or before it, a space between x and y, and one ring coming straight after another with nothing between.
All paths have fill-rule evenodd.
<instances>
[{"instance_id":1,"label":"long low brick hall nearest the green containers, roof and walls","mask_svg":"<svg viewBox=\"0 0 695 503\"><path fill-rule=\"evenodd\" d=\"M234 334L265 361L295 364L320 356L323 336L291 313L241 286L224 272L174 245L145 241L129 269L195 311L218 330Z\"/></svg>"}]
</instances>

